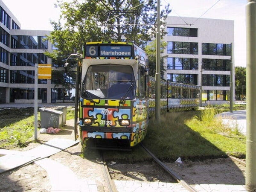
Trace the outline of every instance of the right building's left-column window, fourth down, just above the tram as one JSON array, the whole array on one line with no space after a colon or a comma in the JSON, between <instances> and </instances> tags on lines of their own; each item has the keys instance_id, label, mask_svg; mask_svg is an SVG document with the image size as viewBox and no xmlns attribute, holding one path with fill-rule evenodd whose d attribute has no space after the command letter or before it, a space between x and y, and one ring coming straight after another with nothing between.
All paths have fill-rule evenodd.
<instances>
[{"instance_id":1,"label":"right building's left-column window, fourth down, just above the tram","mask_svg":"<svg viewBox=\"0 0 256 192\"><path fill-rule=\"evenodd\" d=\"M167 74L167 81L186 84L197 84L196 74Z\"/></svg>"}]
</instances>

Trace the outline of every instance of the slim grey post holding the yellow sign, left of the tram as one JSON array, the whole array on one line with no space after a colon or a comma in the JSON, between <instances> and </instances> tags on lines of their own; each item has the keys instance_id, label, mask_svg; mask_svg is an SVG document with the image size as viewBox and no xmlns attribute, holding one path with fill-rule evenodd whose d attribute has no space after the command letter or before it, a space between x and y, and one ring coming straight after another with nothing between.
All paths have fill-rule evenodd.
<instances>
[{"instance_id":1,"label":"slim grey post holding the yellow sign, left of the tram","mask_svg":"<svg viewBox=\"0 0 256 192\"><path fill-rule=\"evenodd\" d=\"M37 140L37 128L38 128L38 64L35 64L35 90L34 90L34 116L35 116L35 140Z\"/></svg>"}]
</instances>

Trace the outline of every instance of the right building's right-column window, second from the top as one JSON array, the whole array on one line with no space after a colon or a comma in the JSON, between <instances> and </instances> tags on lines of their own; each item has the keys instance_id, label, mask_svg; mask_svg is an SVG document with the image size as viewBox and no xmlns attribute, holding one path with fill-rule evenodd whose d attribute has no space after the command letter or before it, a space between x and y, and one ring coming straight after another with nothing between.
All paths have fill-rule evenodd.
<instances>
[{"instance_id":1,"label":"right building's right-column window, second from the top","mask_svg":"<svg viewBox=\"0 0 256 192\"><path fill-rule=\"evenodd\" d=\"M202 59L202 69L230 71L230 59Z\"/></svg>"}]
</instances>

